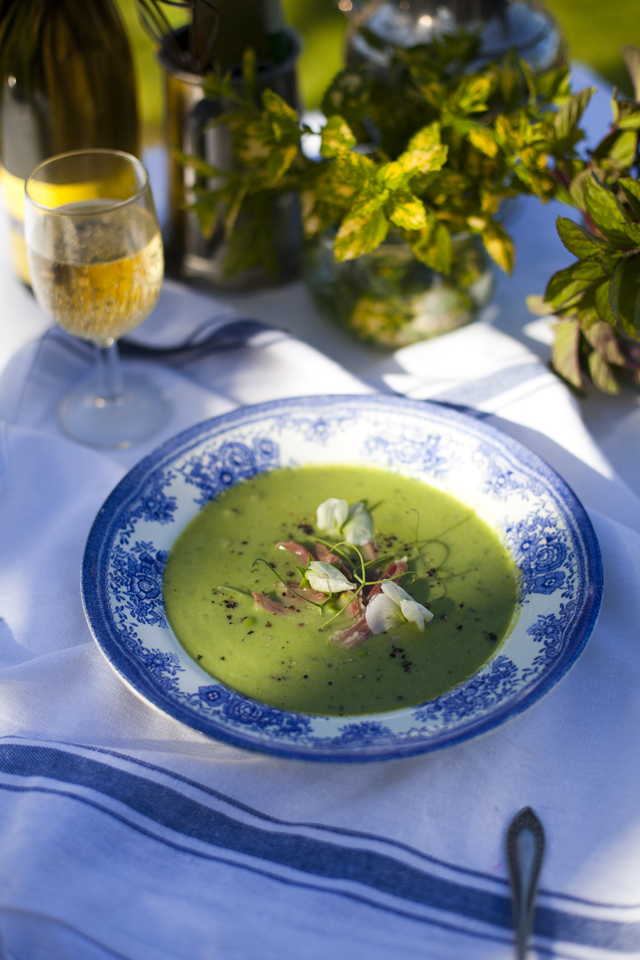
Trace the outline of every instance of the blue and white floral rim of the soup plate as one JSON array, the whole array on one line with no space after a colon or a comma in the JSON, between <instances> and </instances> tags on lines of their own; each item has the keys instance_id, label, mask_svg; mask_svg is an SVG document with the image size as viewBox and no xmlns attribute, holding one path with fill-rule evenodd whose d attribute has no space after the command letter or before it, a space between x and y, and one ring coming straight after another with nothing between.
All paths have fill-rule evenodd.
<instances>
[{"instance_id":1,"label":"blue and white floral rim of the soup plate","mask_svg":"<svg viewBox=\"0 0 640 960\"><path fill-rule=\"evenodd\" d=\"M358 717L288 713L205 673L165 616L167 552L221 490L279 466L368 464L475 508L522 572L518 616L472 677L418 707ZM87 619L111 665L146 701L238 746L310 760L381 760L475 737L535 703L567 672L596 622L602 562L589 519L526 447L434 403L303 397L244 407L169 440L118 484L89 535Z\"/></svg>"}]
</instances>

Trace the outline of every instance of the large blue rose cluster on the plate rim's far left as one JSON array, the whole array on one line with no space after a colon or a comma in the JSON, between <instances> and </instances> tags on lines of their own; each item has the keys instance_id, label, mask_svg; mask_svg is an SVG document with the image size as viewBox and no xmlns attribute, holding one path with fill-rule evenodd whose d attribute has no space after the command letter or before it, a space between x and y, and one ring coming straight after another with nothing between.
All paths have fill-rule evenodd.
<instances>
[{"instance_id":1,"label":"large blue rose cluster on the plate rim's far left","mask_svg":"<svg viewBox=\"0 0 640 960\"><path fill-rule=\"evenodd\" d=\"M162 576L167 551L146 541L136 541L129 550L114 546L109 570L113 598L138 623L167 626L162 600Z\"/></svg>"}]
</instances>

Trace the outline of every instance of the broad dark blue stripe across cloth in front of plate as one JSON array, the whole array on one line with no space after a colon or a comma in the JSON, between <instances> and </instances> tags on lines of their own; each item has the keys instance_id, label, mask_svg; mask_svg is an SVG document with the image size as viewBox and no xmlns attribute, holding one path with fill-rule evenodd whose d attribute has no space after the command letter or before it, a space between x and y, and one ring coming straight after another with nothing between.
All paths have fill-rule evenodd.
<instances>
[{"instance_id":1,"label":"broad dark blue stripe across cloth in front of plate","mask_svg":"<svg viewBox=\"0 0 640 960\"><path fill-rule=\"evenodd\" d=\"M315 875L325 881L346 880L359 883L371 891L377 890L404 900L407 908L415 903L443 910L461 918L491 924L500 930L511 927L511 909L507 897L433 876L378 851L354 849L336 840L328 841L283 831L275 832L243 823L227 813L211 809L164 784L86 756L49 746L3 744L0 746L0 771L12 776L46 777L59 783L96 791L119 801L138 814L183 837L191 837L228 853L236 852L266 863L279 864L302 873ZM8 785L3 786L6 788ZM39 786L25 786L21 789L43 790ZM90 802L85 797L68 792L66 795L75 800ZM97 803L93 805L100 806ZM104 807L100 809L110 816L115 816L112 810ZM128 826L141 830L139 825L125 821L122 817L119 819L127 822ZM153 833L148 835L158 842L176 846L164 837ZM198 855L194 854L192 849L186 852ZM211 859L222 858L211 857ZM226 862L251 869L253 872L266 873L265 870L257 870L247 864L229 860ZM274 879L308 886L282 876L275 876ZM330 886L323 886L321 889L324 892L354 897L354 894L345 893L341 889L332 889ZM389 909L387 905L369 901L364 896L361 899L366 899L372 906ZM403 911L394 910L393 912L402 914ZM433 922L431 918L411 916L412 919ZM472 936L478 935L468 930L464 932ZM624 953L640 949L640 924L638 923L592 919L545 906L539 906L536 911L535 933L552 940Z\"/></svg>"}]
</instances>

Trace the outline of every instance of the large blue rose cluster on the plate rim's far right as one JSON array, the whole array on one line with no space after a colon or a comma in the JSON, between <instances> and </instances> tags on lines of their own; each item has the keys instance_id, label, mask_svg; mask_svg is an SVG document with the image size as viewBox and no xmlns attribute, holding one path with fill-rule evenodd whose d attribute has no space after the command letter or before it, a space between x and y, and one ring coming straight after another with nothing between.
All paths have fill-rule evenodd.
<instances>
[{"instance_id":1,"label":"large blue rose cluster on the plate rim's far right","mask_svg":"<svg viewBox=\"0 0 640 960\"><path fill-rule=\"evenodd\" d=\"M551 594L567 585L574 572L567 532L555 517L532 513L506 528L507 541L522 572L522 597ZM566 566L566 570L559 568Z\"/></svg>"}]
</instances>

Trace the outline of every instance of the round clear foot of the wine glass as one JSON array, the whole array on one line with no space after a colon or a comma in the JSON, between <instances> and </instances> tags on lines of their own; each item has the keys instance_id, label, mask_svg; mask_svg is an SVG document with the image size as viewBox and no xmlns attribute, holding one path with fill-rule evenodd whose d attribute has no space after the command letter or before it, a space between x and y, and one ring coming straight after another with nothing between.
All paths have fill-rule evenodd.
<instances>
[{"instance_id":1,"label":"round clear foot of the wine glass","mask_svg":"<svg viewBox=\"0 0 640 960\"><path fill-rule=\"evenodd\" d=\"M120 396L106 399L98 378L81 383L58 407L64 431L80 443L120 450L152 437L169 419L169 395L136 373L125 373L123 386Z\"/></svg>"}]
</instances>

